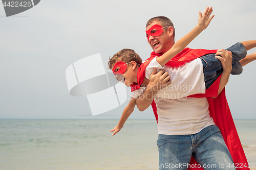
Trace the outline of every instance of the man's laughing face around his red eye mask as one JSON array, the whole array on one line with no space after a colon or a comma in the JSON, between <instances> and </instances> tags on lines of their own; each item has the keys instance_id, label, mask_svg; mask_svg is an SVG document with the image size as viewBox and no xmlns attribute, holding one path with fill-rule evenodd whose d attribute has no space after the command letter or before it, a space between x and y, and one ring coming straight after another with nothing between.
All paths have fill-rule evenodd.
<instances>
[{"instance_id":1,"label":"man's laughing face around his red eye mask","mask_svg":"<svg viewBox=\"0 0 256 170\"><path fill-rule=\"evenodd\" d=\"M146 31L149 30L154 25L162 26L161 22L156 20L156 21L152 22L149 26L146 27ZM152 30L152 31L154 31L154 30ZM148 37L148 41L147 42L150 44L150 46L155 51L155 53L158 53L158 54L164 54L174 44L173 43L174 41L172 41L172 37L171 37L170 32L168 31L168 29L167 30L164 29L163 33L161 35L159 35L159 36L152 36L152 35L150 35Z\"/></svg>"}]
</instances>

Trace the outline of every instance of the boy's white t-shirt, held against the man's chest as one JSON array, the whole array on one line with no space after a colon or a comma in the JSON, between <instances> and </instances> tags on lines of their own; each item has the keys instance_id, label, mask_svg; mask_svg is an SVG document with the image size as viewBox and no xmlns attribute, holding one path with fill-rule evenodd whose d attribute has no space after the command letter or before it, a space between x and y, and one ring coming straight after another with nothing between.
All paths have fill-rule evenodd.
<instances>
[{"instance_id":1,"label":"boy's white t-shirt, held against the man's chest","mask_svg":"<svg viewBox=\"0 0 256 170\"><path fill-rule=\"evenodd\" d=\"M179 67L161 66L155 57L145 69L145 77L150 80L150 75L154 69L157 71L164 69L168 72L172 83L157 92L157 98L181 99L188 95L205 93L205 83L203 74L203 64L200 58L185 63ZM133 98L138 98L144 88L132 92Z\"/></svg>"}]
</instances>

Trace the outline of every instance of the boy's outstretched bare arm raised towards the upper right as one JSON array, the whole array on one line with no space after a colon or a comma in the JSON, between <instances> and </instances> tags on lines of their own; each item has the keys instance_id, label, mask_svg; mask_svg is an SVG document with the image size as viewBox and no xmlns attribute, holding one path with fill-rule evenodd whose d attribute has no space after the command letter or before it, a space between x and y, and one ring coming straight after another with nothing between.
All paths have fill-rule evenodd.
<instances>
[{"instance_id":1,"label":"boy's outstretched bare arm raised towards the upper right","mask_svg":"<svg viewBox=\"0 0 256 170\"><path fill-rule=\"evenodd\" d=\"M210 16L212 12L212 7L206 8L203 12L199 12L198 17L198 25L190 31L187 35L178 40L170 50L168 50L165 54L157 58L157 62L160 65L166 64L170 59L174 56L182 52L182 50L194 39L196 38L204 29L206 29L214 17L214 15Z\"/></svg>"}]
</instances>

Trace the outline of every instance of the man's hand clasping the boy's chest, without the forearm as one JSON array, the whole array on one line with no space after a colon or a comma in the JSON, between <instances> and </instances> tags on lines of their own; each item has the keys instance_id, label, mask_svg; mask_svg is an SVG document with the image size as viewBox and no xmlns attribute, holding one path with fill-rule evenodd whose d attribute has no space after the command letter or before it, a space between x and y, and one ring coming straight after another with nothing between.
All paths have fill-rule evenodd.
<instances>
[{"instance_id":1,"label":"man's hand clasping the boy's chest, without the forearm","mask_svg":"<svg viewBox=\"0 0 256 170\"><path fill-rule=\"evenodd\" d=\"M160 70L157 73L157 68L154 67L154 70L150 76L150 82L147 85L147 88L152 88L156 91L161 90L162 88L168 86L171 83L170 76L168 72Z\"/></svg>"}]
</instances>

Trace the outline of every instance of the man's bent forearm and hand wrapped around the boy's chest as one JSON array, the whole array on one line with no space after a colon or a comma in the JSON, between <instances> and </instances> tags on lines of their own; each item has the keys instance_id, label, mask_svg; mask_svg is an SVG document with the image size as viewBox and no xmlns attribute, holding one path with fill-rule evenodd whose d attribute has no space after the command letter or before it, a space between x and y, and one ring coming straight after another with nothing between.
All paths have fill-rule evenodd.
<instances>
[{"instance_id":1,"label":"man's bent forearm and hand wrapped around the boy's chest","mask_svg":"<svg viewBox=\"0 0 256 170\"><path fill-rule=\"evenodd\" d=\"M168 86L171 83L168 72L164 72L164 70L160 70L158 73L156 72L157 69L154 67L150 76L150 82L144 92L136 100L136 105L139 111L146 110L153 102L158 90L161 90L163 87Z\"/></svg>"}]
</instances>

